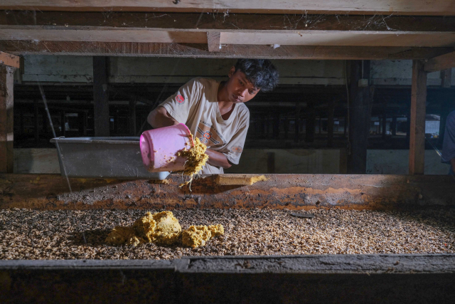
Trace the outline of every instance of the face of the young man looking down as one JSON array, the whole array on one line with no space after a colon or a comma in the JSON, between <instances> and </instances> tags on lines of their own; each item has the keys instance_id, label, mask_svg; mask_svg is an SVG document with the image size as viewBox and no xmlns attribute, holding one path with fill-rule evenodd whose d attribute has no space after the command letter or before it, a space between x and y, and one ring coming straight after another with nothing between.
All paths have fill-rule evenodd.
<instances>
[{"instance_id":1,"label":"face of the young man looking down","mask_svg":"<svg viewBox=\"0 0 455 304\"><path fill-rule=\"evenodd\" d=\"M259 92L259 88L255 88L250 81L247 80L245 73L241 70L235 70L232 67L229 71L229 80L226 82L226 90L228 90L229 101L232 103L246 103L251 100Z\"/></svg>"}]
</instances>

